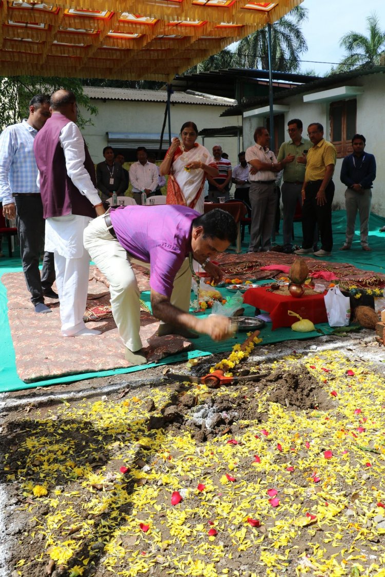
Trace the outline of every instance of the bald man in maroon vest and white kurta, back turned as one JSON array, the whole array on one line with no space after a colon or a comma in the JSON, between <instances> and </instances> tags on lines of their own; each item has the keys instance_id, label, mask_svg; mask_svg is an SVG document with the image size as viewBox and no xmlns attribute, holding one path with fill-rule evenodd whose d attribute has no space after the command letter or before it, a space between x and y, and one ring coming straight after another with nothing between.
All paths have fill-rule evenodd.
<instances>
[{"instance_id":1,"label":"bald man in maroon vest and white kurta, back turned","mask_svg":"<svg viewBox=\"0 0 385 577\"><path fill-rule=\"evenodd\" d=\"M94 163L75 122L76 97L54 92L52 116L33 143L46 219L46 250L54 253L63 336L99 335L85 328L89 255L83 230L105 211L96 190Z\"/></svg>"}]
</instances>

